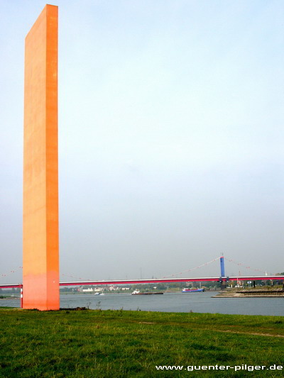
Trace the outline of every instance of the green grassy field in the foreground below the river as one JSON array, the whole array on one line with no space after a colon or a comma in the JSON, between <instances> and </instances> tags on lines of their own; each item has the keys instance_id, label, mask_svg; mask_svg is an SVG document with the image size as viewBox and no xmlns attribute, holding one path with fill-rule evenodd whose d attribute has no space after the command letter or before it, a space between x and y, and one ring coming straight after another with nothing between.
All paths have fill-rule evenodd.
<instances>
[{"instance_id":1,"label":"green grassy field in the foreground below the river","mask_svg":"<svg viewBox=\"0 0 284 378\"><path fill-rule=\"evenodd\" d=\"M0 321L0 377L284 377L282 317L2 308Z\"/></svg>"}]
</instances>

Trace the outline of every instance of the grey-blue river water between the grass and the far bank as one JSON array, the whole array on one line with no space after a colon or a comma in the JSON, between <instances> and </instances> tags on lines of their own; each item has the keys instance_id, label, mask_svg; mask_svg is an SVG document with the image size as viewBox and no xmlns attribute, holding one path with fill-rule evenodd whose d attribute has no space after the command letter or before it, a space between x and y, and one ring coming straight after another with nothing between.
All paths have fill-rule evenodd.
<instances>
[{"instance_id":1,"label":"grey-blue river water between the grass and the far bank","mask_svg":"<svg viewBox=\"0 0 284 378\"><path fill-rule=\"evenodd\" d=\"M89 307L102 310L141 310L165 312L232 313L241 315L284 315L284 298L212 298L215 291L204 293L131 294L61 294L61 308ZM18 299L1 299L0 306L19 307Z\"/></svg>"}]
</instances>

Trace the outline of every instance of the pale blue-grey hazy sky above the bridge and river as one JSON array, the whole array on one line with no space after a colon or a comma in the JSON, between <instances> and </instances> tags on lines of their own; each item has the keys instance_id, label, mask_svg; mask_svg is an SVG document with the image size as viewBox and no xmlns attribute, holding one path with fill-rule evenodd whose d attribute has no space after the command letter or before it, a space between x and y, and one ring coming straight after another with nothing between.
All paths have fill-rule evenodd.
<instances>
[{"instance_id":1,"label":"pale blue-grey hazy sky above the bridge and river","mask_svg":"<svg viewBox=\"0 0 284 378\"><path fill-rule=\"evenodd\" d=\"M51 4L61 274L164 277L221 254L283 272L284 2ZM0 0L0 274L22 265L24 39L44 6Z\"/></svg>"}]
</instances>

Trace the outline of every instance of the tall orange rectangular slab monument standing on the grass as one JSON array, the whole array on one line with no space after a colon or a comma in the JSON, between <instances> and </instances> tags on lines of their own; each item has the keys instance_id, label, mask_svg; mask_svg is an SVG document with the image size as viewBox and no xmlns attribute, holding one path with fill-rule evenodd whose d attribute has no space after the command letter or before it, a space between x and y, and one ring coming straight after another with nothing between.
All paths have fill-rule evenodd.
<instances>
[{"instance_id":1,"label":"tall orange rectangular slab monument standing on the grass","mask_svg":"<svg viewBox=\"0 0 284 378\"><path fill-rule=\"evenodd\" d=\"M26 36L23 308L58 310L58 7Z\"/></svg>"}]
</instances>

